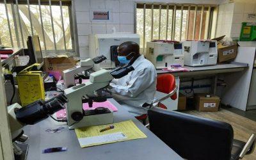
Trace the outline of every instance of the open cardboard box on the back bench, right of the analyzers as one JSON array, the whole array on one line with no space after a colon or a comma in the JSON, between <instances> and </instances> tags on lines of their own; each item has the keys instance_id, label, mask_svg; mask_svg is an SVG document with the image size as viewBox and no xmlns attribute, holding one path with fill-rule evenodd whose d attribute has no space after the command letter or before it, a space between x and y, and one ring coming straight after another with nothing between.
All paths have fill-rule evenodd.
<instances>
[{"instance_id":1,"label":"open cardboard box on the back bench, right of the analyzers","mask_svg":"<svg viewBox=\"0 0 256 160\"><path fill-rule=\"evenodd\" d=\"M222 45L218 42L218 62L232 61L237 55L237 44Z\"/></svg>"}]
</instances>

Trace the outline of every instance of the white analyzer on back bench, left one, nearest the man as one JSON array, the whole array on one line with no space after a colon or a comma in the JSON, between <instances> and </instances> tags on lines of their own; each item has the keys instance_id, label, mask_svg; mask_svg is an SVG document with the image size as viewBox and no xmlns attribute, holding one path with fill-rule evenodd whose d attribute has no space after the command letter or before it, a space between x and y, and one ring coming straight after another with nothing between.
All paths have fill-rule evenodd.
<instances>
[{"instance_id":1,"label":"white analyzer on back bench, left one, nearest the man","mask_svg":"<svg viewBox=\"0 0 256 160\"><path fill-rule=\"evenodd\" d=\"M145 56L157 69L171 67L171 65L181 65L183 67L183 51L182 43L157 40L147 42Z\"/></svg>"}]
</instances>

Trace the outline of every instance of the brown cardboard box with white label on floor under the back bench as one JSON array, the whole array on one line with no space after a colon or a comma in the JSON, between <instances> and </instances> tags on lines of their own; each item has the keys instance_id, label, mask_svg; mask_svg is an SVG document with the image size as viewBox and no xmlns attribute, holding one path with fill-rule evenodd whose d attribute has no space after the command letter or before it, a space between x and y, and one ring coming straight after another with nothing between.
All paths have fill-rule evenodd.
<instances>
[{"instance_id":1,"label":"brown cardboard box with white label on floor under the back bench","mask_svg":"<svg viewBox=\"0 0 256 160\"><path fill-rule=\"evenodd\" d=\"M198 111L218 111L220 98L214 95L205 97L204 93L195 95L195 105Z\"/></svg>"}]
</instances>

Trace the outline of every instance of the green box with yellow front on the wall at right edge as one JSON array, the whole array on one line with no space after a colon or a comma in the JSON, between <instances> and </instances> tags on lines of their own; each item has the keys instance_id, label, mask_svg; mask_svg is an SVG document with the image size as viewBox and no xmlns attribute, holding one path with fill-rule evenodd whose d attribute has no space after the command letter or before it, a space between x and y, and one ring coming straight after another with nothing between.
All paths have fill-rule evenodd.
<instances>
[{"instance_id":1,"label":"green box with yellow front on the wall at right edge","mask_svg":"<svg viewBox=\"0 0 256 160\"><path fill-rule=\"evenodd\" d=\"M240 41L255 41L256 40L256 22L243 22L241 33L240 33Z\"/></svg>"}]
</instances>

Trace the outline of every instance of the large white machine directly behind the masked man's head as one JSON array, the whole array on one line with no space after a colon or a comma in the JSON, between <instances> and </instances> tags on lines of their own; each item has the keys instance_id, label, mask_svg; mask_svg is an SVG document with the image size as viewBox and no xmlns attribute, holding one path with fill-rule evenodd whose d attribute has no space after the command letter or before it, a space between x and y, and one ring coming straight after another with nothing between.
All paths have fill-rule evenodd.
<instances>
[{"instance_id":1,"label":"large white machine directly behind the masked man's head","mask_svg":"<svg viewBox=\"0 0 256 160\"><path fill-rule=\"evenodd\" d=\"M100 64L94 65L94 70L100 68L115 68L118 67L117 60L118 53L116 51L118 45L124 42L136 42L140 44L140 36L132 33L111 33L111 34L94 34L89 35L89 56L103 55L107 60L102 61Z\"/></svg>"}]
</instances>

